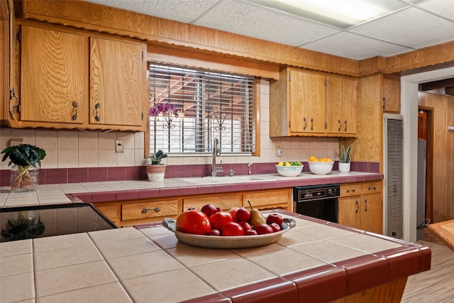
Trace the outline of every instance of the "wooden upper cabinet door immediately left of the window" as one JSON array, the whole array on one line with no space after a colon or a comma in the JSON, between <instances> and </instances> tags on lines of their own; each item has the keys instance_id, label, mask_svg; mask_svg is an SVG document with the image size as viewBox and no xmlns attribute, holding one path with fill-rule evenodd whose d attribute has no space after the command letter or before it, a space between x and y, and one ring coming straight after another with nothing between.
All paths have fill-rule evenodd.
<instances>
[{"instance_id":1,"label":"wooden upper cabinet door immediately left of the window","mask_svg":"<svg viewBox=\"0 0 454 303\"><path fill-rule=\"evenodd\" d=\"M89 123L141 126L143 43L90 38Z\"/></svg>"}]
</instances>

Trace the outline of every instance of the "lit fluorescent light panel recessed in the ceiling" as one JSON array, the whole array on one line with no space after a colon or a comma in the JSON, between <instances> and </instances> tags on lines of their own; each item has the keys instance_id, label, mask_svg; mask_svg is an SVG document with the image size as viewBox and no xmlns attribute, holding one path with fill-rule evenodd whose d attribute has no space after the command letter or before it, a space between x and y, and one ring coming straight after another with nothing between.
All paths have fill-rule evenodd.
<instances>
[{"instance_id":1,"label":"lit fluorescent light panel recessed in the ceiling","mask_svg":"<svg viewBox=\"0 0 454 303\"><path fill-rule=\"evenodd\" d=\"M347 29L409 6L399 0L248 0L337 28Z\"/></svg>"}]
</instances>

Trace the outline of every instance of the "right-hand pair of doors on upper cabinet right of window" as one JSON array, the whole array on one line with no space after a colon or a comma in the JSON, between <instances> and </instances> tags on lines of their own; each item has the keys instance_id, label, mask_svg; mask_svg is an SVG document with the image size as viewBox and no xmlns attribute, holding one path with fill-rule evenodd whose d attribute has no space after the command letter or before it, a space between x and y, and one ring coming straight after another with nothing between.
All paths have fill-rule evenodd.
<instances>
[{"instance_id":1,"label":"right-hand pair of doors on upper cabinet right of window","mask_svg":"<svg viewBox=\"0 0 454 303\"><path fill-rule=\"evenodd\" d=\"M347 77L326 77L326 132L358 133L356 100L358 80Z\"/></svg>"}]
</instances>

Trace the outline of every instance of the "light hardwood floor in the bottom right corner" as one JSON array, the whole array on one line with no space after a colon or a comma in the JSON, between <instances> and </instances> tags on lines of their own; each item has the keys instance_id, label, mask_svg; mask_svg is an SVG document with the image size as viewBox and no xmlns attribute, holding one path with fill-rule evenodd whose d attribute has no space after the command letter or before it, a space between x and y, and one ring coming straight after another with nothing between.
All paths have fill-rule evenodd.
<instances>
[{"instance_id":1,"label":"light hardwood floor in the bottom right corner","mask_svg":"<svg viewBox=\"0 0 454 303\"><path fill-rule=\"evenodd\" d=\"M418 243L432 250L431 270L409 277L402 302L453 303L454 251L431 232L426 232L424 241Z\"/></svg>"}]
</instances>

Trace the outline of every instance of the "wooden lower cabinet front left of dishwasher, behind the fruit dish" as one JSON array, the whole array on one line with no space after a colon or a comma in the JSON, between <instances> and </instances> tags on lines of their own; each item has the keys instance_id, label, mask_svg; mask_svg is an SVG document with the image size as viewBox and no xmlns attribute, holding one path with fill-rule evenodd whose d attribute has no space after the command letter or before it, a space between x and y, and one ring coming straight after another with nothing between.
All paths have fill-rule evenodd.
<instances>
[{"instance_id":1,"label":"wooden lower cabinet front left of dishwasher, behind the fruit dish","mask_svg":"<svg viewBox=\"0 0 454 303\"><path fill-rule=\"evenodd\" d=\"M118 227L160 222L164 218L177 218L182 211L205 204L214 204L223 210L245 206L248 200L254 208L291 210L292 189L255 190L221 194L197 194L191 196L138 199L94 203L107 218Z\"/></svg>"}]
</instances>

